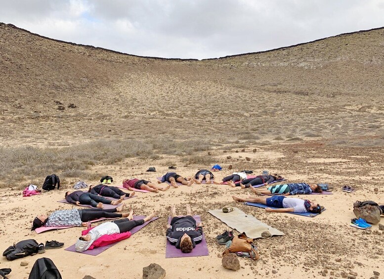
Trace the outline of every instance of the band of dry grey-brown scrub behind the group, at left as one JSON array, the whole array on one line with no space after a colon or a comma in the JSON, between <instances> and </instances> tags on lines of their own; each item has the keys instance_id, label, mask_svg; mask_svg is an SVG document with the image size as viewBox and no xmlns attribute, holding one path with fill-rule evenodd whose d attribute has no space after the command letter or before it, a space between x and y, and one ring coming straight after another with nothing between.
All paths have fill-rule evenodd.
<instances>
[{"instance_id":1,"label":"band of dry grey-brown scrub behind the group, at left","mask_svg":"<svg viewBox=\"0 0 384 279\"><path fill-rule=\"evenodd\" d=\"M38 179L43 183L46 175L55 173L63 177L84 179L91 177L91 165L114 164L126 158L139 157L158 159L159 154L191 155L210 149L210 144L201 139L174 141L164 140L108 140L99 139L89 143L63 147L0 147L0 186L16 185L18 182Z\"/></svg>"}]
</instances>

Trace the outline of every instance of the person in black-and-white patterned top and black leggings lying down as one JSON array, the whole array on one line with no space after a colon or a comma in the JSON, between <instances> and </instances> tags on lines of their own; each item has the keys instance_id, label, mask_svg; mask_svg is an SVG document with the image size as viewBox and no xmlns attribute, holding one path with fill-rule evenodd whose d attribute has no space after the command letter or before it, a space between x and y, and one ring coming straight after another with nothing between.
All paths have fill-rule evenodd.
<instances>
[{"instance_id":1,"label":"person in black-and-white patterned top and black leggings lying down","mask_svg":"<svg viewBox=\"0 0 384 279\"><path fill-rule=\"evenodd\" d=\"M53 211L49 216L38 215L33 221L32 230L44 227L81 227L86 222L100 218L121 218L128 217L128 213L121 213L124 203L112 209L88 208L88 209L64 209Z\"/></svg>"}]
</instances>

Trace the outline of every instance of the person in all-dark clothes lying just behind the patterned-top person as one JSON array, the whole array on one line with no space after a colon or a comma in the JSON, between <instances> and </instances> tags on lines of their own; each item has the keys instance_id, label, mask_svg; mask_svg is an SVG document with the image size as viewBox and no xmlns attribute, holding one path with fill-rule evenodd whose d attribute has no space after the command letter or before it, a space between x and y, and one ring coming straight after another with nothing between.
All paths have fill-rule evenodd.
<instances>
[{"instance_id":1,"label":"person in all-dark clothes lying just behind the patterned-top person","mask_svg":"<svg viewBox=\"0 0 384 279\"><path fill-rule=\"evenodd\" d=\"M72 193L66 192L65 193L65 199L69 203L73 203L76 205L81 205L81 204L90 204L93 207L97 208L104 208L104 203L105 204L112 204L116 205L119 204L123 201L124 198L120 198L118 200L110 200L110 199L105 199L102 196L97 196L91 193L84 193L83 191L75 191Z\"/></svg>"}]
</instances>

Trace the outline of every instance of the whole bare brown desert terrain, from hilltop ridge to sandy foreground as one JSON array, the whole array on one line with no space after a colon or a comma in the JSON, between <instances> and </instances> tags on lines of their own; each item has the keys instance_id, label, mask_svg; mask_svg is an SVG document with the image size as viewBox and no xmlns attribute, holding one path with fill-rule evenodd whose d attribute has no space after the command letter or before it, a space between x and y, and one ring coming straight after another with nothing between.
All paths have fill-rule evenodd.
<instances>
[{"instance_id":1,"label":"whole bare brown desert terrain, from hilltop ridge to sandy foreground","mask_svg":"<svg viewBox=\"0 0 384 279\"><path fill-rule=\"evenodd\" d=\"M116 184L129 177L155 181L171 164L191 176L216 162L223 166L217 179L267 169L288 182L329 183L334 195L300 196L327 208L307 218L234 202L232 195L249 191L224 185L137 193L124 202L140 215L155 210L160 219L96 257L64 249L43 256L65 279L141 278L150 263L160 264L169 279L337 278L350 271L357 278L373 271L383 277L383 232L377 225L370 234L349 226L354 201L384 204L383 35L382 28L192 61L124 55L0 24L0 250L30 238L72 245L81 228L37 235L30 227L39 213L71 208L56 201L78 180L95 184L108 174ZM106 160L105 145L117 140L125 145L113 145L116 158ZM177 145L185 140L195 140L192 152ZM67 147L72 157L57 160L55 151ZM196 155L207 160L194 161ZM158 172L145 172L149 166ZM52 172L63 182L59 191L22 198L27 183L41 186ZM343 185L356 192L342 192ZM186 203L202 217L210 255L166 259L170 205L184 213ZM260 260L240 258L237 272L221 266L224 247L215 242L229 228L207 212L225 205L286 234L257 239ZM10 279L28 278L37 258L1 257L0 266L12 268Z\"/></svg>"}]
</instances>

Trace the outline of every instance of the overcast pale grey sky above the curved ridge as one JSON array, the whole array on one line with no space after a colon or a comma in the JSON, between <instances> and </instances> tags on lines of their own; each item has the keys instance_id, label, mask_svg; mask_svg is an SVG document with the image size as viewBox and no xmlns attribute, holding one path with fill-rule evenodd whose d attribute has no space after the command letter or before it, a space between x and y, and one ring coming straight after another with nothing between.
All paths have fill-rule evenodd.
<instances>
[{"instance_id":1,"label":"overcast pale grey sky above the curved ridge","mask_svg":"<svg viewBox=\"0 0 384 279\"><path fill-rule=\"evenodd\" d=\"M384 26L384 0L0 0L0 22L166 58L256 52Z\"/></svg>"}]
</instances>

